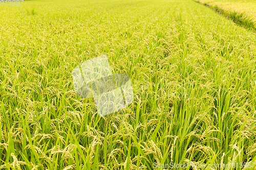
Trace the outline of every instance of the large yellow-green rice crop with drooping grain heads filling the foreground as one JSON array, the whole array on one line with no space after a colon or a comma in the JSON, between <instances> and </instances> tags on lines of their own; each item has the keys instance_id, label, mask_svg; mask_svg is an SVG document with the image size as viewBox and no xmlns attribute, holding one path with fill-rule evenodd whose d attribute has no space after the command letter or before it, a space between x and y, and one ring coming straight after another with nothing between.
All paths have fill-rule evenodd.
<instances>
[{"instance_id":1,"label":"large yellow-green rice crop with drooping grain heads filling the foreground","mask_svg":"<svg viewBox=\"0 0 256 170\"><path fill-rule=\"evenodd\" d=\"M191 0L0 8L0 168L256 162L254 32ZM99 117L71 72L102 54L135 100Z\"/></svg>"}]
</instances>

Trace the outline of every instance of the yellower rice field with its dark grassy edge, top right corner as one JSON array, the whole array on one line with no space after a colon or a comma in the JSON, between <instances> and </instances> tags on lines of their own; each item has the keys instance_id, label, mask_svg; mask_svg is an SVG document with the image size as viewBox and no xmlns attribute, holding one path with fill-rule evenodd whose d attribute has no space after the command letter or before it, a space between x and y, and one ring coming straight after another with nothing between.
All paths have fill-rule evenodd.
<instances>
[{"instance_id":1,"label":"yellower rice field with its dark grassy edge, top right corner","mask_svg":"<svg viewBox=\"0 0 256 170\"><path fill-rule=\"evenodd\" d=\"M202 3L225 16L234 22L248 29L256 31L256 4L252 0L195 0Z\"/></svg>"}]
</instances>

